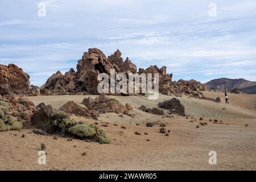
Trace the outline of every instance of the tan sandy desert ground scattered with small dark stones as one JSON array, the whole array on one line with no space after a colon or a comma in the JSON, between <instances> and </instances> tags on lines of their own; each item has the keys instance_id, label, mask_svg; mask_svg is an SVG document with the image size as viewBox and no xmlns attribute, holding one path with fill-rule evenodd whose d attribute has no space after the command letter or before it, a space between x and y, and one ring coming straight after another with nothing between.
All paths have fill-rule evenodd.
<instances>
[{"instance_id":1,"label":"tan sandy desert ground scattered with small dark stones","mask_svg":"<svg viewBox=\"0 0 256 182\"><path fill-rule=\"evenodd\" d=\"M131 118L115 113L101 114L99 123L112 139L110 144L84 140L36 135L32 129L0 133L1 170L255 170L256 169L256 95L229 94L230 105L224 104L224 93L204 92L211 98L221 97L221 103L197 98L179 97L188 118L174 115L162 118L144 113L138 107L156 107L171 96L158 100L146 96L111 96L133 106ZM28 97L58 108L67 101L81 103L88 96ZM91 96L96 97L96 96ZM224 109L225 108L225 109ZM193 117L193 119L191 119ZM208 125L200 126L203 117ZM84 118L76 119L86 120ZM222 124L209 122L218 119ZM89 122L95 122L87 119ZM193 121L193 122L189 122ZM146 122L165 123L170 137L159 133L159 125L146 127ZM115 126L114 125L117 125ZM245 126L247 124L248 126ZM125 126L126 129L122 129ZM139 131L141 135L135 135ZM145 135L144 133L148 133ZM22 138L22 134L26 137ZM150 139L150 141L147 141ZM38 164L40 144L46 144L46 165ZM209 151L216 151L217 164L210 165ZM81 155L86 152L86 155Z\"/></svg>"}]
</instances>

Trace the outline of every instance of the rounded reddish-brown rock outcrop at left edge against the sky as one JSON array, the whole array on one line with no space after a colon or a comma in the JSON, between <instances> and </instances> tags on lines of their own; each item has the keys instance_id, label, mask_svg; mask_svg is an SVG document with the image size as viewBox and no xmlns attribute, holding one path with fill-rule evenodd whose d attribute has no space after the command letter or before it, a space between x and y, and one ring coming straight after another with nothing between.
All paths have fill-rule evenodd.
<instances>
[{"instance_id":1,"label":"rounded reddish-brown rock outcrop at left edge against the sky","mask_svg":"<svg viewBox=\"0 0 256 182\"><path fill-rule=\"evenodd\" d=\"M15 64L0 64L0 94L28 94L30 76Z\"/></svg>"}]
</instances>

